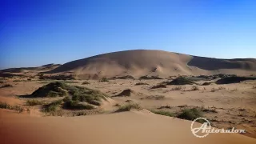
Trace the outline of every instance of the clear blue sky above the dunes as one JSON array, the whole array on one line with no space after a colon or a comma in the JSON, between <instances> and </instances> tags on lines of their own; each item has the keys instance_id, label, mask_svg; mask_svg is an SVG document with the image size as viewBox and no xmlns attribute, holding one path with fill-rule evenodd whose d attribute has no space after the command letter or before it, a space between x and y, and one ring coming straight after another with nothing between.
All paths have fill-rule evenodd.
<instances>
[{"instance_id":1,"label":"clear blue sky above the dunes","mask_svg":"<svg viewBox=\"0 0 256 144\"><path fill-rule=\"evenodd\" d=\"M0 2L0 69L134 49L256 58L255 0Z\"/></svg>"}]
</instances>

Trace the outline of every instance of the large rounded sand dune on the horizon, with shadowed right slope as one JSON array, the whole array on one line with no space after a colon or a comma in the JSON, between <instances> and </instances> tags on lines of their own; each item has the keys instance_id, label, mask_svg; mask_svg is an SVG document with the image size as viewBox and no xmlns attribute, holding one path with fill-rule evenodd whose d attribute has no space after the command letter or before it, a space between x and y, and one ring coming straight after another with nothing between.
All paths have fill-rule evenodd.
<instances>
[{"instance_id":1,"label":"large rounded sand dune on the horizon, with shadowed right slope","mask_svg":"<svg viewBox=\"0 0 256 144\"><path fill-rule=\"evenodd\" d=\"M81 78L93 76L176 74L253 74L256 59L218 59L170 53L162 50L127 50L100 54L59 66L50 73L73 72Z\"/></svg>"}]
</instances>

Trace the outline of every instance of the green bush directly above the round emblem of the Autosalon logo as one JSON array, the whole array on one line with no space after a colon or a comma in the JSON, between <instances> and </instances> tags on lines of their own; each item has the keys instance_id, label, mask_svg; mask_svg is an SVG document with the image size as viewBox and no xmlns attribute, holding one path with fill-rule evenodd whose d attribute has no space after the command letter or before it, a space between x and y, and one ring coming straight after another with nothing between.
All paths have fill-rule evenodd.
<instances>
[{"instance_id":1,"label":"green bush directly above the round emblem of the Autosalon logo","mask_svg":"<svg viewBox=\"0 0 256 144\"><path fill-rule=\"evenodd\" d=\"M182 110L181 114L178 114L177 118L193 121L195 118L202 117L202 111L196 108Z\"/></svg>"}]
</instances>

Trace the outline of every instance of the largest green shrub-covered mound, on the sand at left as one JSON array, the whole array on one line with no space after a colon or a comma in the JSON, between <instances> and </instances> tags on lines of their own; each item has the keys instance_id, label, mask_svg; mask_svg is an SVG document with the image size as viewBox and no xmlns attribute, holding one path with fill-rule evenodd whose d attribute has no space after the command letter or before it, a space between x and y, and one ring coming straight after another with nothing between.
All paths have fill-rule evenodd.
<instances>
[{"instance_id":1,"label":"largest green shrub-covered mound, on the sand at left","mask_svg":"<svg viewBox=\"0 0 256 144\"><path fill-rule=\"evenodd\" d=\"M60 100L60 102L57 102L58 105L64 103L63 107L66 109L82 110L93 109L94 106L100 106L102 100L106 100L107 95L98 90L92 90L82 86L70 86L63 82L51 82L35 90L30 97L66 97ZM53 107L56 108L58 105L53 103L46 106L46 108L49 107L50 110L54 110Z\"/></svg>"}]
</instances>

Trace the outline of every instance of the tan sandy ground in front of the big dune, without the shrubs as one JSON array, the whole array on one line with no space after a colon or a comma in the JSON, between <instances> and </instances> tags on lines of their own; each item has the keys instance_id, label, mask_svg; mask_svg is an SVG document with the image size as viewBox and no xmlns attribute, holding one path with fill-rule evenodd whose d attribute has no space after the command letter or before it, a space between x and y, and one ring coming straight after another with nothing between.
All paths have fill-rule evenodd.
<instances>
[{"instance_id":1,"label":"tan sandy ground in front of the big dune, without the shrubs","mask_svg":"<svg viewBox=\"0 0 256 144\"><path fill-rule=\"evenodd\" d=\"M256 143L256 86L255 81L229 85L176 86L150 89L166 80L90 80L89 85L75 81L70 85L88 86L101 90L112 98L102 106L105 114L80 117L42 117L37 106L25 106L26 98L46 82L11 82L13 87L0 89L0 102L30 109L17 114L12 110L1 110L1 139L3 143ZM149 85L135 86L137 82ZM130 97L112 97L131 89ZM162 99L154 96L162 95ZM151 97L149 97L151 96ZM153 96L153 97L152 97ZM115 104L136 102L147 110L114 113ZM164 108L170 106L170 108ZM246 134L210 134L206 138L195 138L190 131L190 121L152 114L148 110L168 110L177 113L190 107L214 107L216 113L204 114L215 127L235 126L245 129ZM248 137L249 136L249 137Z\"/></svg>"}]
</instances>

